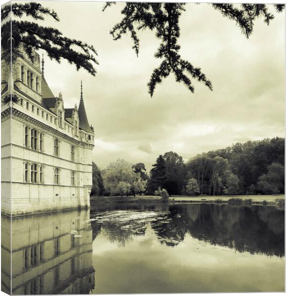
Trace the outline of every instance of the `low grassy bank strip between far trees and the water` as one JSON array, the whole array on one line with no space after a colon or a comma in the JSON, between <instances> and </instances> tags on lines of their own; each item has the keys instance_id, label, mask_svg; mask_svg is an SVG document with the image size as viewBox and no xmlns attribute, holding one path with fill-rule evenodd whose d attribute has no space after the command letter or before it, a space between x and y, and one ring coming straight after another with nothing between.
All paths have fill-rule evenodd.
<instances>
[{"instance_id":1,"label":"low grassy bank strip between far trees and the water","mask_svg":"<svg viewBox=\"0 0 288 296\"><path fill-rule=\"evenodd\" d=\"M276 205L279 200L285 200L284 194L278 195L219 195L219 196L170 196L169 203L231 203L231 204L254 204ZM91 196L91 204L107 203L159 203L160 196ZM284 202L280 202L284 206Z\"/></svg>"}]
</instances>

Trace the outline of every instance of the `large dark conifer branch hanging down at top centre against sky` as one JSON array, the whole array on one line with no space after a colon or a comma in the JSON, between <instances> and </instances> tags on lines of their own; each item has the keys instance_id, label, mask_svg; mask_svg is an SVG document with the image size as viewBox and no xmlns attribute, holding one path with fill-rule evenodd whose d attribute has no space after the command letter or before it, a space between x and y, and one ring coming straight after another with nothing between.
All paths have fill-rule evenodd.
<instances>
[{"instance_id":1,"label":"large dark conifer branch hanging down at top centre against sky","mask_svg":"<svg viewBox=\"0 0 288 296\"><path fill-rule=\"evenodd\" d=\"M151 96L154 94L156 85L161 83L162 79L170 73L175 75L177 82L184 83L192 92L194 87L187 74L191 74L192 78L204 82L212 90L211 81L201 73L200 69L193 68L189 62L181 59L179 55L179 17L181 12L185 10L184 5L184 3L129 2L121 12L124 18L111 30L114 40L120 39L129 30L134 43L132 48L135 49L137 55L139 52L139 39L136 36L134 25L137 24L138 31L145 29L155 31L156 37L161 40L155 57L162 59L162 62L158 68L154 69L147 84Z\"/></svg>"}]
</instances>

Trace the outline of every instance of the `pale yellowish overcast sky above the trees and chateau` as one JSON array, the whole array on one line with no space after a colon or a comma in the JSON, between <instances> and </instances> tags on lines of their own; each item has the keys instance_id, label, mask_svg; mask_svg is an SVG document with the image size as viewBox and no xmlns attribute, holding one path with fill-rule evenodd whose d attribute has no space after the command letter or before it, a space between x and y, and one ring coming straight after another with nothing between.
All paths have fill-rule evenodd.
<instances>
[{"instance_id":1,"label":"pale yellowish overcast sky above the trees and chateau","mask_svg":"<svg viewBox=\"0 0 288 296\"><path fill-rule=\"evenodd\" d=\"M214 89L193 81L192 94L172 74L151 98L147 82L160 64L154 58L159 40L151 31L140 32L137 58L128 36L112 39L109 31L120 21L123 3L105 12L103 2L42 4L61 20L47 18L46 25L97 50L95 77L47 57L45 77L55 95L62 92L65 108L79 103L83 79L85 107L95 128L93 161L100 168L124 158L150 169L170 150L189 159L236 142L285 136L285 13L275 13L269 26L257 20L247 39L211 5L187 4L180 18L181 55L202 69Z\"/></svg>"}]
</instances>

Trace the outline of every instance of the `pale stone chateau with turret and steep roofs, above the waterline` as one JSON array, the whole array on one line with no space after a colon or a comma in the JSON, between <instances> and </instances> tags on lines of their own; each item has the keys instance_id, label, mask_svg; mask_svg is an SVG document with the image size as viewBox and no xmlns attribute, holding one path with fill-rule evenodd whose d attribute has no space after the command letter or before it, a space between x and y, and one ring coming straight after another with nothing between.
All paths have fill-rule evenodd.
<instances>
[{"instance_id":1,"label":"pale stone chateau with turret and steep roofs, above the waterline","mask_svg":"<svg viewBox=\"0 0 288 296\"><path fill-rule=\"evenodd\" d=\"M44 77L44 60L1 61L1 212L21 216L90 207L94 128L80 92L64 108ZM40 65L42 64L42 65ZM12 101L10 94L12 93Z\"/></svg>"}]
</instances>

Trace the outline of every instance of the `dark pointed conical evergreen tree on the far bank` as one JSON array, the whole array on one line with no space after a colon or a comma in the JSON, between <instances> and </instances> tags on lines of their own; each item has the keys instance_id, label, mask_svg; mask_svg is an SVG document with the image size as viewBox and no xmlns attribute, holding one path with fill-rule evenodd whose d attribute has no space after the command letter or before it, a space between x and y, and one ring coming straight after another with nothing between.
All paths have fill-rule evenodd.
<instances>
[{"instance_id":1,"label":"dark pointed conical evergreen tree on the far bank","mask_svg":"<svg viewBox=\"0 0 288 296\"><path fill-rule=\"evenodd\" d=\"M152 165L150 171L150 179L148 183L149 194L154 194L159 187L164 188L167 180L165 160L162 155L156 159L156 163Z\"/></svg>"}]
</instances>

